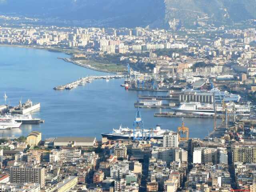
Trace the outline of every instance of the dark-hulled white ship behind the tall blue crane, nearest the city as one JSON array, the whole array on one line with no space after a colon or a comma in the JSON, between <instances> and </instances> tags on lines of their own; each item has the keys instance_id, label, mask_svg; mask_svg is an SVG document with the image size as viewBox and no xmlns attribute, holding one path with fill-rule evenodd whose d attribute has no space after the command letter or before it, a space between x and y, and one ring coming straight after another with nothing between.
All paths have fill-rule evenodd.
<instances>
[{"instance_id":1,"label":"dark-hulled white ship behind the tall blue crane, nearest the city","mask_svg":"<svg viewBox=\"0 0 256 192\"><path fill-rule=\"evenodd\" d=\"M128 127L122 128L122 126L119 127L119 129L113 129L111 133L102 133L102 137L106 137L110 140L133 140L134 135L136 138L144 138L144 140L149 140L150 137L154 139L163 139L164 133L170 132L170 130L163 130L160 128L159 125L156 126L155 129L149 130L149 129L143 129L143 135L142 130L135 130L135 134L133 133L133 129L130 129Z\"/></svg>"}]
</instances>

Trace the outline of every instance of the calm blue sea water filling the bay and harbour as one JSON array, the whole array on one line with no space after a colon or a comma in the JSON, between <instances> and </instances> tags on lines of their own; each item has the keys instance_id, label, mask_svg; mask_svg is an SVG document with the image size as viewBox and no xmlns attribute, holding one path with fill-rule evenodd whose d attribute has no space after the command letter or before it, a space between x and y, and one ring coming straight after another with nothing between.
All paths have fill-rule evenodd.
<instances>
[{"instance_id":1,"label":"calm blue sea water filling the bay and harbour","mask_svg":"<svg viewBox=\"0 0 256 192\"><path fill-rule=\"evenodd\" d=\"M26 136L38 130L43 138L96 136L100 139L101 132L110 132L120 124L132 128L138 94L156 94L124 90L120 86L123 79L94 80L70 91L55 91L54 86L79 77L106 74L64 62L58 57L68 56L32 48L0 47L0 104L16 106L19 100L28 99L40 102L40 111L33 112L32 116L45 120L44 124L0 130L1 136ZM6 101L4 92L8 96ZM154 117L159 111L141 109L144 128L160 124L164 129L176 130L181 125L182 118ZM190 128L190 137L204 138L213 127L212 119L184 118L184 122Z\"/></svg>"}]
</instances>

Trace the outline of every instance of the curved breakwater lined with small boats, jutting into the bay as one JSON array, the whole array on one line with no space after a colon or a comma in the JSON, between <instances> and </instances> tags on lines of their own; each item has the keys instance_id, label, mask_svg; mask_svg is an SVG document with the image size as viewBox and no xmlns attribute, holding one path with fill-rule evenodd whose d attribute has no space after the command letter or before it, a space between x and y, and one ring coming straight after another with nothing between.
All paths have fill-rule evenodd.
<instances>
[{"instance_id":1,"label":"curved breakwater lined with small boats, jutting into the bay","mask_svg":"<svg viewBox=\"0 0 256 192\"><path fill-rule=\"evenodd\" d=\"M90 76L90 77L83 77L83 78L80 78L79 80L77 81L73 81L71 83L68 83L66 85L61 85L61 86L56 86L54 87L53 89L54 90L71 90L73 88L75 88L76 86L78 85L85 85L86 83L91 83L92 80L95 80L95 79L112 79L112 78L123 78L124 75L108 75L108 76Z\"/></svg>"}]
</instances>

